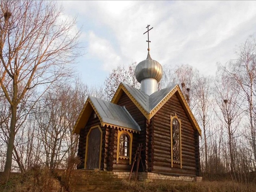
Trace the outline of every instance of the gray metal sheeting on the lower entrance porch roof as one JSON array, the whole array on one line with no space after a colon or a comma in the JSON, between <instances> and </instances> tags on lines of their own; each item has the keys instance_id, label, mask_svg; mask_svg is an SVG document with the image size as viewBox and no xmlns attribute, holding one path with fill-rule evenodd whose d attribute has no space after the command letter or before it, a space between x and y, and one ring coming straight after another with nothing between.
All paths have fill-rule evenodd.
<instances>
[{"instance_id":1,"label":"gray metal sheeting on the lower entrance porch roof","mask_svg":"<svg viewBox=\"0 0 256 192\"><path fill-rule=\"evenodd\" d=\"M140 126L125 107L92 96L89 96L89 98L104 123L140 131Z\"/></svg>"}]
</instances>

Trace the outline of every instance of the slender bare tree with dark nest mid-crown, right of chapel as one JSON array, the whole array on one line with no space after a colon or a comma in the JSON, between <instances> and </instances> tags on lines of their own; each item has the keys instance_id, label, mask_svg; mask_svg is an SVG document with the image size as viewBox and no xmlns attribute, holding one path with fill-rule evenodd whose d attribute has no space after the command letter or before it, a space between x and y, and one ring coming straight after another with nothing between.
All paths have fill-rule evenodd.
<instances>
[{"instance_id":1,"label":"slender bare tree with dark nest mid-crown, right of chapel","mask_svg":"<svg viewBox=\"0 0 256 192\"><path fill-rule=\"evenodd\" d=\"M232 81L232 77L219 66L215 80L215 96L221 116L218 115L218 112L216 114L227 130L229 152L227 159L230 164L231 173L234 173L235 168L235 138L238 135L242 112L241 106L243 103L243 98L239 92L240 86Z\"/></svg>"}]
</instances>

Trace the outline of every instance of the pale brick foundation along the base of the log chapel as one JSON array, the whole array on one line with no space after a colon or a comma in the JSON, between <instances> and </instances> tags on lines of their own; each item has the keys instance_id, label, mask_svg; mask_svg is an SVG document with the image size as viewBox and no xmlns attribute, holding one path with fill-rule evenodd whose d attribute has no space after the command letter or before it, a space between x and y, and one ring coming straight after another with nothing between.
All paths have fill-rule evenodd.
<instances>
[{"instance_id":1,"label":"pale brick foundation along the base of the log chapel","mask_svg":"<svg viewBox=\"0 0 256 192\"><path fill-rule=\"evenodd\" d=\"M113 172L120 179L128 179L130 172ZM134 177L134 172L132 172L132 177ZM193 177L193 176L171 176L171 175L163 175L158 173L151 172L139 172L139 180L179 180L179 181L195 181L201 182L202 177Z\"/></svg>"}]
</instances>

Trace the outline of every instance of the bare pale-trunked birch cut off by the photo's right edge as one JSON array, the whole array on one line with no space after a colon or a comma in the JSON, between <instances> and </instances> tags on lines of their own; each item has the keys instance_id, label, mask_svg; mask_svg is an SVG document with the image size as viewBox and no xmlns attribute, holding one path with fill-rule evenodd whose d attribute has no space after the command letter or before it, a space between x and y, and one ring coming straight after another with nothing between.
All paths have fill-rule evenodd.
<instances>
[{"instance_id":1,"label":"bare pale-trunked birch cut off by the photo's right edge","mask_svg":"<svg viewBox=\"0 0 256 192\"><path fill-rule=\"evenodd\" d=\"M247 41L240 46L237 52L239 58L231 60L228 67L224 70L232 77L241 88L241 94L247 102L247 107L244 112L248 114L250 121L251 143L254 153L254 161L256 160L256 132L255 132L255 118L253 108L255 106L255 88L256 88L256 42L254 39L247 39Z\"/></svg>"}]
</instances>

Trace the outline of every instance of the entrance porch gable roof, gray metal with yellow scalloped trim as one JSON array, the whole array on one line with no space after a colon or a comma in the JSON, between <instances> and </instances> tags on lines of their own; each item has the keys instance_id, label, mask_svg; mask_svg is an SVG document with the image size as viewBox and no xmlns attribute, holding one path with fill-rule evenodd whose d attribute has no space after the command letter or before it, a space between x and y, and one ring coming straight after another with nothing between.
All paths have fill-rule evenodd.
<instances>
[{"instance_id":1,"label":"entrance porch gable roof, gray metal with yellow scalloped trim","mask_svg":"<svg viewBox=\"0 0 256 192\"><path fill-rule=\"evenodd\" d=\"M132 132L140 132L140 126L125 107L89 96L76 121L73 133L79 133L80 129L84 128L92 111L100 119L101 126L110 125Z\"/></svg>"}]
</instances>

